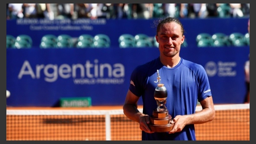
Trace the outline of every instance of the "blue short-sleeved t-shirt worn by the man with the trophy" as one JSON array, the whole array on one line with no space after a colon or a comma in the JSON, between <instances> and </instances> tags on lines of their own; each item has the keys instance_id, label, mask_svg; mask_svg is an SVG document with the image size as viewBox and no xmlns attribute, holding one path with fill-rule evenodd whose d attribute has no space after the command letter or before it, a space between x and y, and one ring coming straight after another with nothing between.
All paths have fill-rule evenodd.
<instances>
[{"instance_id":1,"label":"blue short-sleeved t-shirt worn by the man with the trophy","mask_svg":"<svg viewBox=\"0 0 256 144\"><path fill-rule=\"evenodd\" d=\"M188 60L180 59L178 65L167 68L156 58L137 66L131 74L129 90L136 96L142 96L143 113L153 115L157 108L154 99L157 87L157 70L160 83L167 89L166 108L172 119L177 115L189 115L196 111L197 100L200 102L212 96L207 74L204 68ZM142 131L142 140L196 140L194 124L186 125L181 132L146 133Z\"/></svg>"}]
</instances>

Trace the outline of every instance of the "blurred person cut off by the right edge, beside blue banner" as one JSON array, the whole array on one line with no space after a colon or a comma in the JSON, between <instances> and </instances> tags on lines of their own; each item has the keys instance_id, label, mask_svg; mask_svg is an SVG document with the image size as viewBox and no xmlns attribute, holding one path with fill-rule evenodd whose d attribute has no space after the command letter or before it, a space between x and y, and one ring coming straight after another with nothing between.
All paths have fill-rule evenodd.
<instances>
[{"instance_id":1,"label":"blurred person cut off by the right edge, beside blue banner","mask_svg":"<svg viewBox=\"0 0 256 144\"><path fill-rule=\"evenodd\" d=\"M244 74L246 84L244 103L250 103L250 54L248 55L248 60L246 60L244 64Z\"/></svg>"}]
</instances>

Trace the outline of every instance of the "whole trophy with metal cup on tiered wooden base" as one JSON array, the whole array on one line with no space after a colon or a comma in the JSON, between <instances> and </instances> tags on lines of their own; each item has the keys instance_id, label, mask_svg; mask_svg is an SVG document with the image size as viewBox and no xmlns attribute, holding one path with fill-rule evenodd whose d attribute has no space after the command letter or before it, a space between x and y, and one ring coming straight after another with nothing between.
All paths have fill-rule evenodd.
<instances>
[{"instance_id":1,"label":"whole trophy with metal cup on tiered wooden base","mask_svg":"<svg viewBox=\"0 0 256 144\"><path fill-rule=\"evenodd\" d=\"M150 124L148 124L148 126L153 132L169 132L173 128L173 124L171 124L172 116L169 115L165 107L167 91L164 84L160 84L160 80L157 70L157 81L155 81L155 83L158 84L154 92L157 108L153 111L153 115L149 117Z\"/></svg>"}]
</instances>

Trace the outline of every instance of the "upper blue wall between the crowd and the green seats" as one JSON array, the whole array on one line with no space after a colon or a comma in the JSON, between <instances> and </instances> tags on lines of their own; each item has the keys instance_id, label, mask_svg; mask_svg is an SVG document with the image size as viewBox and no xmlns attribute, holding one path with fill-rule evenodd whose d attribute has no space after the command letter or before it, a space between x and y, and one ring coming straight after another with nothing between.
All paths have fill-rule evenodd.
<instances>
[{"instance_id":1,"label":"upper blue wall between the crowd and the green seats","mask_svg":"<svg viewBox=\"0 0 256 144\"><path fill-rule=\"evenodd\" d=\"M18 19L6 21L6 34L18 36L28 34L33 39L33 47L39 48L41 38L46 34L55 36L68 34L77 39L82 34L106 34L110 37L113 48L118 48L118 38L122 34L146 34L154 38L156 35L155 20L157 19L137 19L137 20L106 20L106 19ZM188 46L196 46L196 36L199 33L222 32L230 35L233 32L245 34L248 32L248 18L208 18L208 19L180 19L185 30L185 38Z\"/></svg>"}]
</instances>

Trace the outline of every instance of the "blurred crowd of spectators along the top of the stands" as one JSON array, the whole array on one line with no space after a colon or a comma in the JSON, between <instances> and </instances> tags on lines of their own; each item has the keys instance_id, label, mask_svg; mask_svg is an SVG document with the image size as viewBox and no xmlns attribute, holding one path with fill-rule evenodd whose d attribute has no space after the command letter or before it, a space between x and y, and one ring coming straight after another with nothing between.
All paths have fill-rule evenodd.
<instances>
[{"instance_id":1,"label":"blurred crowd of spectators along the top of the stands","mask_svg":"<svg viewBox=\"0 0 256 144\"><path fill-rule=\"evenodd\" d=\"M6 4L6 19L249 17L250 4Z\"/></svg>"}]
</instances>

